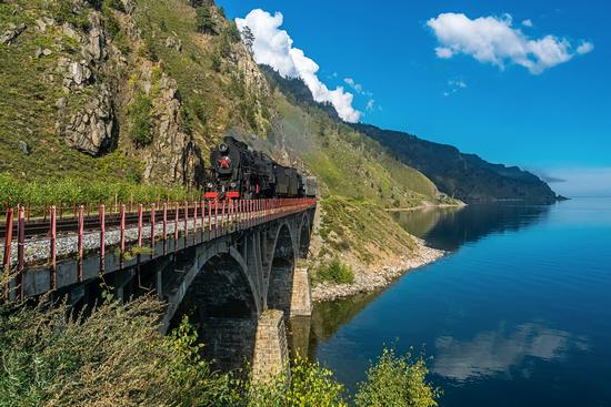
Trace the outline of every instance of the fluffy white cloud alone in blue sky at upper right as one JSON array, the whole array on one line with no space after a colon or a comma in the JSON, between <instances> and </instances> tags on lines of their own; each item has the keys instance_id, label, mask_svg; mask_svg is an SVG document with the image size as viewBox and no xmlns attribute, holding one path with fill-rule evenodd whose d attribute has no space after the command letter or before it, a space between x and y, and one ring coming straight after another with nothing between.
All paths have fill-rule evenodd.
<instances>
[{"instance_id":1,"label":"fluffy white cloud alone in blue sky at upper right","mask_svg":"<svg viewBox=\"0 0 611 407\"><path fill-rule=\"evenodd\" d=\"M471 20L462 13L441 13L430 19L427 26L433 30L440 43L435 53L442 59L463 53L501 69L511 62L539 74L575 55L567 39L554 35L540 39L527 37L520 29L513 28L510 14ZM577 53L588 53L592 49L593 44L583 42Z\"/></svg>"}]
</instances>

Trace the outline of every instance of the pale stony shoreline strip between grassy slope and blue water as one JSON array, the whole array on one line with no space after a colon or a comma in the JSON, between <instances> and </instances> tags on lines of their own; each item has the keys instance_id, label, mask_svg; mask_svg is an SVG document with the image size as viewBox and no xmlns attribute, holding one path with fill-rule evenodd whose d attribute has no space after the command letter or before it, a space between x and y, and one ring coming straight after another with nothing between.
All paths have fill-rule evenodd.
<instances>
[{"instance_id":1,"label":"pale stony shoreline strip between grassy slope and blue water","mask_svg":"<svg viewBox=\"0 0 611 407\"><path fill-rule=\"evenodd\" d=\"M429 247L425 245L424 241L420 238L417 240L417 246L418 248L413 253L401 256L399 262L354 272L354 283L320 283L313 286L311 289L312 302L328 303L335 299L348 298L357 294L371 293L381 288L387 288L399 277L415 268L437 262L449 253Z\"/></svg>"}]
</instances>

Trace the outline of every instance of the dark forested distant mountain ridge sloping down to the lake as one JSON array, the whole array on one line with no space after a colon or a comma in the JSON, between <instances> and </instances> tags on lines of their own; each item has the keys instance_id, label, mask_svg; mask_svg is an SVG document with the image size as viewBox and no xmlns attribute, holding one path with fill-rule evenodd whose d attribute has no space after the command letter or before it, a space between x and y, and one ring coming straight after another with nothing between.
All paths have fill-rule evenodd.
<instances>
[{"instance_id":1,"label":"dark forested distant mountain ridge sloping down to the lake","mask_svg":"<svg viewBox=\"0 0 611 407\"><path fill-rule=\"evenodd\" d=\"M270 67L261 69L296 104L321 108L334 121L341 121L331 104L318 103L300 79L281 78ZM537 175L518 166L492 164L475 154L461 153L457 147L422 140L400 131L382 130L371 124L350 124L385 146L404 164L422 172L437 187L464 202L519 200L552 203L558 200L550 186Z\"/></svg>"}]
</instances>

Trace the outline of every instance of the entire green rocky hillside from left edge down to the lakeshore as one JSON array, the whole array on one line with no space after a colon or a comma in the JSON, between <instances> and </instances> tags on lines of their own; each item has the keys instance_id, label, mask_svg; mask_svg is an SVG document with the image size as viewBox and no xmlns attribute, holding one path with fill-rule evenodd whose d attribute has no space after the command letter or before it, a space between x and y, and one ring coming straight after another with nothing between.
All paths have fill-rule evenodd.
<instances>
[{"instance_id":1,"label":"entire green rocky hillside from left edge down to the lakeshore","mask_svg":"<svg viewBox=\"0 0 611 407\"><path fill-rule=\"evenodd\" d=\"M211 0L6 0L0 42L6 177L198 187L231 132L318 176L313 263L362 267L415 247L385 208L455 203L258 67Z\"/></svg>"}]
</instances>

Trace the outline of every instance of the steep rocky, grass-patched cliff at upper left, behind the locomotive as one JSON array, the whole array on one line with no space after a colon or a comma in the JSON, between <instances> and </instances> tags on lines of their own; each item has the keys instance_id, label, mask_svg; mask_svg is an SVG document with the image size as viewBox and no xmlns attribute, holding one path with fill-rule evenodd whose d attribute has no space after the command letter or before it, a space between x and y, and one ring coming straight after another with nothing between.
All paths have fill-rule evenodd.
<instances>
[{"instance_id":1,"label":"steep rocky, grass-patched cliff at upper left, behind the locomotive","mask_svg":"<svg viewBox=\"0 0 611 407\"><path fill-rule=\"evenodd\" d=\"M180 0L0 2L0 171L197 185L228 129L268 132L268 83L210 10L203 34Z\"/></svg>"}]
</instances>

